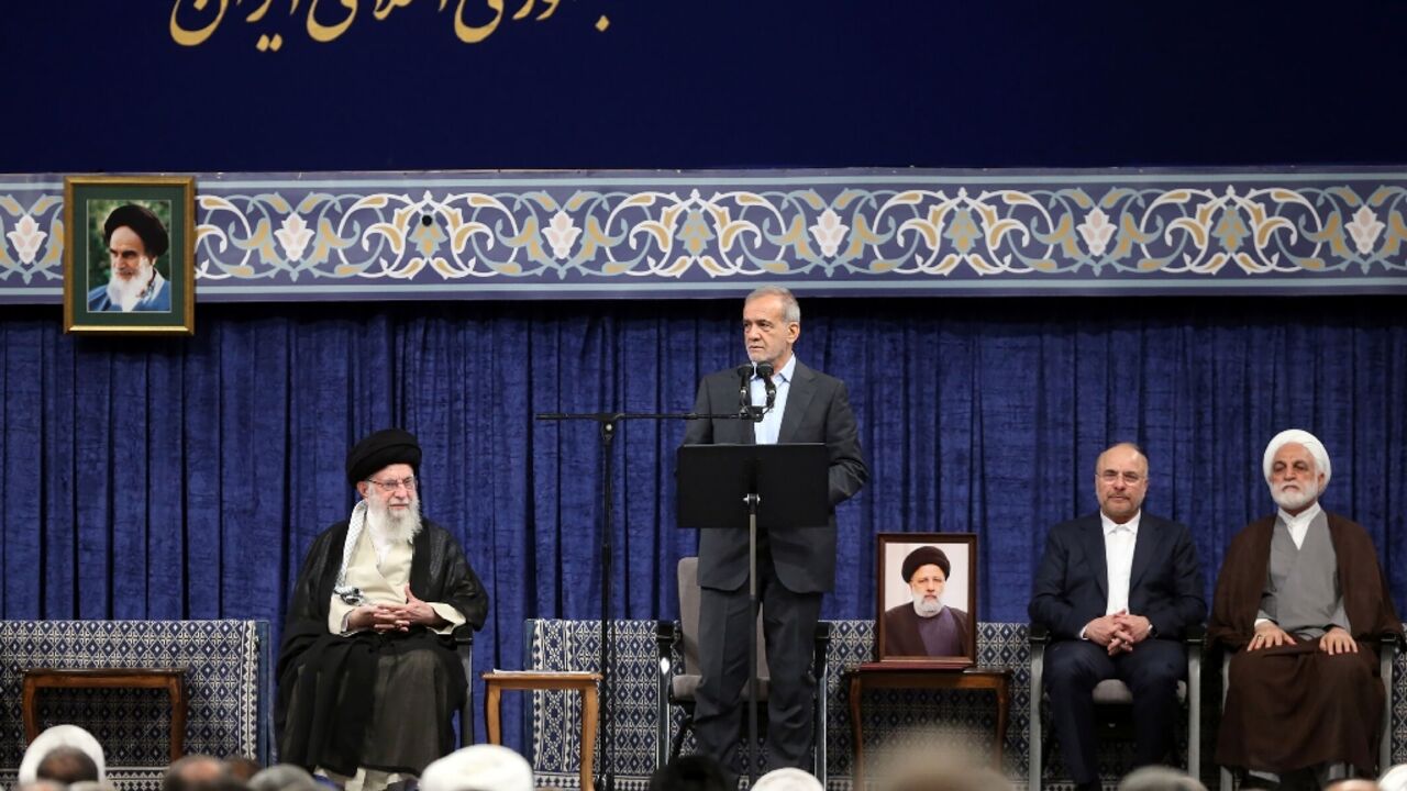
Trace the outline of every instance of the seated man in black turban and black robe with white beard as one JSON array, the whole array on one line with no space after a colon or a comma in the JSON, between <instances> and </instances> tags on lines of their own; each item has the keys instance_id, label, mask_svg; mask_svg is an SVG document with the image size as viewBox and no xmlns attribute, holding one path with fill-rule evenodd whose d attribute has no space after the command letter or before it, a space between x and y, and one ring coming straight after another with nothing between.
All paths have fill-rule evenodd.
<instances>
[{"instance_id":1,"label":"seated man in black turban and black robe with white beard","mask_svg":"<svg viewBox=\"0 0 1407 791\"><path fill-rule=\"evenodd\" d=\"M352 449L348 483L362 501L312 542L288 602L279 754L348 791L418 777L454 747L467 680L450 632L488 615L459 542L421 517L419 466L401 429Z\"/></svg>"}]
</instances>

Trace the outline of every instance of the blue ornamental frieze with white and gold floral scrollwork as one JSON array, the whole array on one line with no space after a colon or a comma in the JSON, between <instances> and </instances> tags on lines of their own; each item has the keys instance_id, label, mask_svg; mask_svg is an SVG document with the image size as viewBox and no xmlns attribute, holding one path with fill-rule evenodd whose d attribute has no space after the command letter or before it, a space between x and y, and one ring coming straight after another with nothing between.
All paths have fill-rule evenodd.
<instances>
[{"instance_id":1,"label":"blue ornamental frieze with white and gold floral scrollwork","mask_svg":"<svg viewBox=\"0 0 1407 791\"><path fill-rule=\"evenodd\" d=\"M0 177L0 301L63 186ZM1407 293L1407 170L197 176L201 301Z\"/></svg>"}]
</instances>

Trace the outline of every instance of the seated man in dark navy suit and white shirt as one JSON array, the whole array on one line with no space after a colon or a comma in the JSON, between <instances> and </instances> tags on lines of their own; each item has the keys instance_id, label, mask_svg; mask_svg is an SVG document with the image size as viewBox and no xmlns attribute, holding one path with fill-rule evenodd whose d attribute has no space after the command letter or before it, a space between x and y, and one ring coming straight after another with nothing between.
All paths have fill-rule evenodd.
<instances>
[{"instance_id":1,"label":"seated man in dark navy suit and white shirt","mask_svg":"<svg viewBox=\"0 0 1407 791\"><path fill-rule=\"evenodd\" d=\"M1051 633L1045 688L1076 788L1099 788L1092 692L1106 678L1134 695L1135 764L1162 763L1172 752L1188 662L1179 639L1207 612L1192 532L1142 512L1148 460L1138 446L1099 455L1095 493L1097 514L1047 536L1030 605L1031 622Z\"/></svg>"}]
</instances>

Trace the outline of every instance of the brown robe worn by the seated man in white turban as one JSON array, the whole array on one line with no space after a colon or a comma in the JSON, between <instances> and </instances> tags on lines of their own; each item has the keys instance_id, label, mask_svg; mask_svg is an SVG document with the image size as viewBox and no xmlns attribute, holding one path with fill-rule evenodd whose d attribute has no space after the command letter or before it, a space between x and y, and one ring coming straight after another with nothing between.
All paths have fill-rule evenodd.
<instances>
[{"instance_id":1,"label":"brown robe worn by the seated man in white turban","mask_svg":"<svg viewBox=\"0 0 1407 791\"><path fill-rule=\"evenodd\" d=\"M1276 518L1247 525L1221 563L1207 624L1207 639L1235 652L1217 740L1221 766L1285 773L1345 761L1375 773L1384 704L1377 654L1365 640L1401 633L1401 621L1368 531L1324 515L1358 653L1330 656L1318 639L1303 638L1290 646L1242 650L1255 635Z\"/></svg>"}]
</instances>

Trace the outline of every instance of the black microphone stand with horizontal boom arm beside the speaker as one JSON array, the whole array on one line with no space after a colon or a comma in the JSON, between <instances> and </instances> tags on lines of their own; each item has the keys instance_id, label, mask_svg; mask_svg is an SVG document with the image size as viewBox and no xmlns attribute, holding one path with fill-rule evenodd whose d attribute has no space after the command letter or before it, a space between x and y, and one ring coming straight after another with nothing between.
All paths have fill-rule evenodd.
<instances>
[{"instance_id":1,"label":"black microphone stand with horizontal boom arm beside the speaker","mask_svg":"<svg viewBox=\"0 0 1407 791\"><path fill-rule=\"evenodd\" d=\"M770 401L770 400L768 400ZM770 405L770 404L768 404ZM763 408L746 405L737 412L722 412L722 414L704 414L704 412L537 412L535 417L539 421L592 421L599 425L601 429L601 459L602 459L602 486L601 486L601 763L597 764L597 791L615 791L615 690L612 681L611 666L615 662L615 628L611 625L611 577L612 577L612 555L613 555L613 521L612 521L612 505L613 505L613 487L612 480L615 473L612 472L612 441L616 435L616 428L620 421L632 419L647 419L647 421L702 421L702 419L746 419L758 422L763 419ZM756 532L756 517L753 519ZM756 543L756 542L754 542ZM756 549L754 549L756 555ZM757 583L756 583L756 557L753 559L754 569L750 570L754 577L753 581L753 622L757 621ZM757 629L749 631L751 640L751 654L753 654L753 674L750 684L756 687L757 684ZM753 700L753 730L751 738L756 742L757 736L757 695L750 695ZM584 745L585 749L591 749L590 745ZM749 750L754 746L749 745ZM754 768L756 771L756 768ZM585 791L585 790L582 790Z\"/></svg>"}]
</instances>

